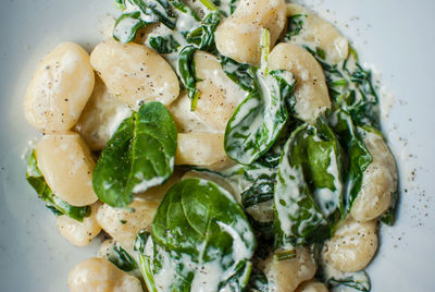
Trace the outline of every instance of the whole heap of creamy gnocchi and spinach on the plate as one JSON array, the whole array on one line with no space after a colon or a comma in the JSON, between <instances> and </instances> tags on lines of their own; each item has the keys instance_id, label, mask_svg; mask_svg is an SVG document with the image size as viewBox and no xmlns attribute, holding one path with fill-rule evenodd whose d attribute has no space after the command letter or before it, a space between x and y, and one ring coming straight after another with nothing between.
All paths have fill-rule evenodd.
<instances>
[{"instance_id":1,"label":"whole heap of creamy gnocchi and spinach on the plate","mask_svg":"<svg viewBox=\"0 0 435 292\"><path fill-rule=\"evenodd\" d=\"M370 291L398 178L347 38L284 0L116 3L24 101L27 181L67 241L101 242L71 291Z\"/></svg>"}]
</instances>

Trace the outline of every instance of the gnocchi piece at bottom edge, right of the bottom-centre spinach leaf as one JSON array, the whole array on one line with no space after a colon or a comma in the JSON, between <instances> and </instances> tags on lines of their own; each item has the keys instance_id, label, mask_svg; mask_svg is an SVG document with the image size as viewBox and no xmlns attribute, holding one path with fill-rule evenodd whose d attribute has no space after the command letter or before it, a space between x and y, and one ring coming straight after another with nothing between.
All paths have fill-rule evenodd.
<instances>
[{"instance_id":1,"label":"gnocchi piece at bottom edge, right of the bottom-centre spinach leaf","mask_svg":"<svg viewBox=\"0 0 435 292\"><path fill-rule=\"evenodd\" d=\"M268 281L276 292L294 292L301 282L312 279L315 270L314 258L302 246L296 247L295 258L275 260L271 255L265 265Z\"/></svg>"}]
</instances>

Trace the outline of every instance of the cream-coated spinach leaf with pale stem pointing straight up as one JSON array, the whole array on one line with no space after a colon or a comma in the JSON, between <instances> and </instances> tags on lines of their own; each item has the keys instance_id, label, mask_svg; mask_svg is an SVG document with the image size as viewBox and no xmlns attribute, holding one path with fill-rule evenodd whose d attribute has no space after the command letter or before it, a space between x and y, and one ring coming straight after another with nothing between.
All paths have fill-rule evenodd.
<instances>
[{"instance_id":1,"label":"cream-coated spinach leaf with pale stem pointing straight up","mask_svg":"<svg viewBox=\"0 0 435 292\"><path fill-rule=\"evenodd\" d=\"M251 165L264 155L288 119L286 105L293 96L295 81L288 71L269 72L269 31L263 29L262 66L249 69L249 75L253 76L252 90L236 108L225 129L225 153L241 165Z\"/></svg>"}]
</instances>

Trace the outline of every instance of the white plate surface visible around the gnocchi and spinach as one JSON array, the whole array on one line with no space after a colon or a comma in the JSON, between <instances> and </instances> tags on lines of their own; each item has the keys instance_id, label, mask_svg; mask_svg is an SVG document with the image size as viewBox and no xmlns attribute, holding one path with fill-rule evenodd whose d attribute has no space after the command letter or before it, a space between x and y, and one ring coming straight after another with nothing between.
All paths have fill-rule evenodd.
<instances>
[{"instance_id":1,"label":"white plate surface visible around the gnocchi and spinach","mask_svg":"<svg viewBox=\"0 0 435 292\"><path fill-rule=\"evenodd\" d=\"M362 61L395 94L383 131L400 170L399 219L383 228L369 272L373 292L435 291L435 2L301 1L334 22ZM4 0L0 9L0 284L1 291L67 291L76 263L98 248L73 247L25 182L21 160L37 133L22 102L39 60L63 40L87 49L100 39L112 0ZM412 174L414 173L414 174ZM405 192L407 190L407 192Z\"/></svg>"}]
</instances>

